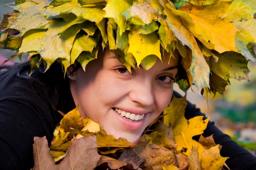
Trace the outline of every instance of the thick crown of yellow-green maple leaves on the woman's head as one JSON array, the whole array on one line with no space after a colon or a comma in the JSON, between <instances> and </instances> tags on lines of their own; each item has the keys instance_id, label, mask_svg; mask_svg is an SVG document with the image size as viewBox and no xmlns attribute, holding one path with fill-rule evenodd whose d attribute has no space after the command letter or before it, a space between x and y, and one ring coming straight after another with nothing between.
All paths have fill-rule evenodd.
<instances>
[{"instance_id":1,"label":"thick crown of yellow-green maple leaves on the woman's head","mask_svg":"<svg viewBox=\"0 0 256 170\"><path fill-rule=\"evenodd\" d=\"M152 67L178 50L184 91L222 94L229 78L247 79L256 62L255 0L16 0L4 15L0 46L28 53L32 70L55 61L85 69L99 46L128 68ZM12 58L11 57L11 58Z\"/></svg>"}]
</instances>

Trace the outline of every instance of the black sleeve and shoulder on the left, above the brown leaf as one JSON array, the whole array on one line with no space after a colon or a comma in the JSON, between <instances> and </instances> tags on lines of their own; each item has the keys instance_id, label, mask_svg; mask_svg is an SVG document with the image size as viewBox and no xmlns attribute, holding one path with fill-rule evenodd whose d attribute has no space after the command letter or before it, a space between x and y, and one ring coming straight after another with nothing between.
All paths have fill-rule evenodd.
<instances>
[{"instance_id":1,"label":"black sleeve and shoulder on the left, above the brown leaf","mask_svg":"<svg viewBox=\"0 0 256 170\"><path fill-rule=\"evenodd\" d=\"M28 77L26 66L0 72L0 170L30 170L34 137L46 136L50 143L59 122L56 88Z\"/></svg>"}]
</instances>

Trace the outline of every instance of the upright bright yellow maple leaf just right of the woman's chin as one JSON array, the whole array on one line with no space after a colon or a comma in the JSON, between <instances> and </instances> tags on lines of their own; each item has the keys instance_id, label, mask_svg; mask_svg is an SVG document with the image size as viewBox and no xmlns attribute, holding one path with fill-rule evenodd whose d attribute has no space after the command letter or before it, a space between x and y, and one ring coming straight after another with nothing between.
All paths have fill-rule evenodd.
<instances>
[{"instance_id":1,"label":"upright bright yellow maple leaf just right of the woman's chin","mask_svg":"<svg viewBox=\"0 0 256 170\"><path fill-rule=\"evenodd\" d=\"M201 159L204 148L197 141L193 140L192 137L203 133L207 127L209 118L203 120L203 116L195 116L188 120L184 117L185 108L186 97L177 98L173 96L171 103L164 110L164 124L166 126L170 126L170 124L173 126L177 153L183 152L189 156L192 147L198 146L199 159Z\"/></svg>"}]
</instances>

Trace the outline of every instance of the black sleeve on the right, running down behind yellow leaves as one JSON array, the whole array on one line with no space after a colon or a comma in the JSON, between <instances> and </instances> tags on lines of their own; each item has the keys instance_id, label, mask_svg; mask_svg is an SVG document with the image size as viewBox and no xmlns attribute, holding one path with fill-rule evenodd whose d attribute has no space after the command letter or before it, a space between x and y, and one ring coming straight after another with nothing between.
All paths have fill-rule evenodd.
<instances>
[{"instance_id":1,"label":"black sleeve on the right, running down behind yellow leaves","mask_svg":"<svg viewBox=\"0 0 256 170\"><path fill-rule=\"evenodd\" d=\"M176 97L182 97L177 92L174 92ZM207 119L205 114L201 113L199 108L196 108L194 104L187 101L185 109L186 119L190 119L195 116L203 115L204 119ZM213 121L209 121L207 128L202 134L204 137L208 137L213 134L213 139L216 144L222 145L220 155L222 157L229 157L226 163L230 170L256 170L256 157L243 147L233 141L228 135L221 132ZM199 136L193 137L193 139L199 139ZM225 167L224 167L225 168Z\"/></svg>"}]
</instances>

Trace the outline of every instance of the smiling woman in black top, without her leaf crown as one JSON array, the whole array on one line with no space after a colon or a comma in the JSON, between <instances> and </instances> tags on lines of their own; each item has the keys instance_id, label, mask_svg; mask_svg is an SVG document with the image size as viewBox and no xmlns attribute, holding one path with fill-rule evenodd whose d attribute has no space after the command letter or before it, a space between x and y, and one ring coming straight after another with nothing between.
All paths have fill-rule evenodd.
<instances>
[{"instance_id":1,"label":"smiling woman in black top, without her leaf crown","mask_svg":"<svg viewBox=\"0 0 256 170\"><path fill-rule=\"evenodd\" d=\"M114 53L105 49L86 66L85 72L81 66L78 70L70 66L68 79L63 79L58 64L46 73L39 68L30 77L27 62L2 71L1 169L31 168L34 136L46 136L50 143L54 127L60 121L56 110L67 113L77 105L83 117L99 122L109 135L135 142L168 106L177 64L178 56L170 62L163 58L163 62L158 60L148 71L135 68L130 73ZM186 118L197 115L203 114L188 103ZM204 135L212 134L215 142L223 145L222 156L230 157L227 165L231 170L255 168L256 158L209 122Z\"/></svg>"}]
</instances>

